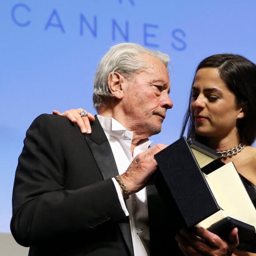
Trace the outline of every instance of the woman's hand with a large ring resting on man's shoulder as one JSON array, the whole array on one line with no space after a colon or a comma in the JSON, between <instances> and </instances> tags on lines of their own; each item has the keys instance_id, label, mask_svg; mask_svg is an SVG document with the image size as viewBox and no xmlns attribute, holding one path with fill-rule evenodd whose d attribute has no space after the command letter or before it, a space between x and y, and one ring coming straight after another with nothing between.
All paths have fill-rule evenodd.
<instances>
[{"instance_id":1,"label":"woman's hand with a large ring resting on man's shoulder","mask_svg":"<svg viewBox=\"0 0 256 256\"><path fill-rule=\"evenodd\" d=\"M53 114L67 117L70 121L78 125L82 133L84 134L91 133L90 121L94 122L95 117L91 113L88 113L88 115L83 116L81 114L81 111L82 113L87 112L86 110L80 108L80 109L69 109L64 111L63 113L60 113L58 110L53 110Z\"/></svg>"}]
</instances>

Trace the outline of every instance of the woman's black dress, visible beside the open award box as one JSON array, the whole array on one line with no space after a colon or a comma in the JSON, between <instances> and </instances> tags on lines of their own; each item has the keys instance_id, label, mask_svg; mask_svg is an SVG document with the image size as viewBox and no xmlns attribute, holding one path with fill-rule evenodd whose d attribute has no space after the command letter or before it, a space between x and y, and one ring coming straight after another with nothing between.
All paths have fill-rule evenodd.
<instances>
[{"instance_id":1,"label":"woman's black dress, visible beside the open award box","mask_svg":"<svg viewBox=\"0 0 256 256\"><path fill-rule=\"evenodd\" d=\"M252 200L254 207L256 208L256 186L248 181L244 176L239 174L241 180L243 181L245 188ZM256 234L248 239L242 241L238 246L237 249L246 252L254 252L256 253Z\"/></svg>"}]
</instances>

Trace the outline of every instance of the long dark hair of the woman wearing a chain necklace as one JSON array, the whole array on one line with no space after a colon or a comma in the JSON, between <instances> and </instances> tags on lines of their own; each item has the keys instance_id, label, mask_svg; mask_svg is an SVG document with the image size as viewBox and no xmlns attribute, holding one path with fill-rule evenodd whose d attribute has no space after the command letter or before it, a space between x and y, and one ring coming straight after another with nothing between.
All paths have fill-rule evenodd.
<instances>
[{"instance_id":1,"label":"long dark hair of the woman wearing a chain necklace","mask_svg":"<svg viewBox=\"0 0 256 256\"><path fill-rule=\"evenodd\" d=\"M256 139L256 65L244 56L224 53L212 55L202 60L196 68L196 72L200 68L218 68L220 78L235 95L236 104L244 106L245 117L237 120L237 130L241 142L246 145L252 145ZM195 77L192 85L194 82ZM181 136L184 136L185 129L188 128L187 138L193 138L201 143L206 143L206 137L196 134L195 125L191 120L191 98L192 88L188 109L184 116Z\"/></svg>"}]
</instances>

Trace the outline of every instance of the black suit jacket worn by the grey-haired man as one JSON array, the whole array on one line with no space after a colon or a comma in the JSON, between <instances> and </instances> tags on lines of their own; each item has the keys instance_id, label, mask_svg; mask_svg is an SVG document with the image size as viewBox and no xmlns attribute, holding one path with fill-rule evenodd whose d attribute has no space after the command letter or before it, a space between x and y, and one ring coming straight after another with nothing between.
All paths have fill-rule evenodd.
<instances>
[{"instance_id":1,"label":"black suit jacket worn by the grey-haired man","mask_svg":"<svg viewBox=\"0 0 256 256\"><path fill-rule=\"evenodd\" d=\"M43 114L26 132L11 232L30 246L30 256L133 255L129 220L111 180L117 166L97 117L91 128L83 135L67 118ZM178 255L176 231L153 185L147 194L151 255Z\"/></svg>"}]
</instances>

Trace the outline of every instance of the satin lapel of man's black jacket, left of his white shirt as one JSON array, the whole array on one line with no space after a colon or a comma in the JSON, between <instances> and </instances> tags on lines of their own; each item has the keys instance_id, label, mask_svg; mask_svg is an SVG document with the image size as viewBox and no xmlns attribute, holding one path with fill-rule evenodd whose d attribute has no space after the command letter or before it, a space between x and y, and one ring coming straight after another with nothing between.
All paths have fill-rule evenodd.
<instances>
[{"instance_id":1,"label":"satin lapel of man's black jacket, left of his white shirt","mask_svg":"<svg viewBox=\"0 0 256 256\"><path fill-rule=\"evenodd\" d=\"M86 141L94 159L102 173L104 180L116 177L118 175L117 165L113 156L109 141L105 136L102 126L95 116L95 121L91 123L92 133L86 136ZM119 223L120 230L124 236L124 240L129 248L131 255L134 255L132 246L132 235L129 221Z\"/></svg>"}]
</instances>

